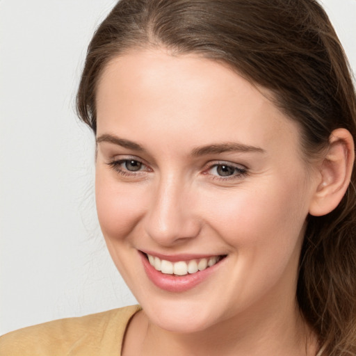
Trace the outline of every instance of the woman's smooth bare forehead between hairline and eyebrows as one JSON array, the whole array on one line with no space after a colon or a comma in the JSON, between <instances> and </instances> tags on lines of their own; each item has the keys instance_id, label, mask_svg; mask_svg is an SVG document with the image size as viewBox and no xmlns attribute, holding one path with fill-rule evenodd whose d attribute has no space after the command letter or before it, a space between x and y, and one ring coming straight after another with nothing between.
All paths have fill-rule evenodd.
<instances>
[{"instance_id":1,"label":"woman's smooth bare forehead between hairline and eyebrows","mask_svg":"<svg viewBox=\"0 0 356 356\"><path fill-rule=\"evenodd\" d=\"M297 125L265 93L207 58L132 51L111 60L99 81L98 135L120 131L120 136L140 140L140 130L145 130L159 140L164 133L169 145L169 133L195 145L213 138L257 146L298 145Z\"/></svg>"}]
</instances>

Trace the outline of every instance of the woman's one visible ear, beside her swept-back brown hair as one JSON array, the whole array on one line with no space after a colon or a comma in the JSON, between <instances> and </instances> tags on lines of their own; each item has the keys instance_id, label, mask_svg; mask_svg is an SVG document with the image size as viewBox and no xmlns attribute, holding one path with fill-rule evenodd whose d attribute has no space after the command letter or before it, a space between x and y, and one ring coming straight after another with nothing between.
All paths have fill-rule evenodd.
<instances>
[{"instance_id":1,"label":"woman's one visible ear, beside her swept-back brown hair","mask_svg":"<svg viewBox=\"0 0 356 356\"><path fill-rule=\"evenodd\" d=\"M326 215L339 205L350 184L354 160L355 147L351 133L346 129L332 131L327 153L318 168L320 174L309 207L311 215Z\"/></svg>"}]
</instances>

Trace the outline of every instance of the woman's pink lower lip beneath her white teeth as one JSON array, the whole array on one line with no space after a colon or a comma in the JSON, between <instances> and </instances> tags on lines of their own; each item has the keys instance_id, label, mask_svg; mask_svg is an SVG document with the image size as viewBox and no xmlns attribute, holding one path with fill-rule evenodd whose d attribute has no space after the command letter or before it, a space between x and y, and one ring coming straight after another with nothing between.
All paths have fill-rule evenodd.
<instances>
[{"instance_id":1,"label":"woman's pink lower lip beneath her white teeth","mask_svg":"<svg viewBox=\"0 0 356 356\"><path fill-rule=\"evenodd\" d=\"M145 254L140 252L141 259L143 261L143 267L145 268L145 272L149 280L160 289L169 292L184 292L189 289L193 289L197 284L200 284L204 280L207 280L209 275L216 271L219 268L220 264L223 260L220 260L217 264L214 264L211 267L208 267L205 270L200 270L199 272L192 273L191 275L166 275L165 273L161 273L159 270L156 270L151 264Z\"/></svg>"}]
</instances>

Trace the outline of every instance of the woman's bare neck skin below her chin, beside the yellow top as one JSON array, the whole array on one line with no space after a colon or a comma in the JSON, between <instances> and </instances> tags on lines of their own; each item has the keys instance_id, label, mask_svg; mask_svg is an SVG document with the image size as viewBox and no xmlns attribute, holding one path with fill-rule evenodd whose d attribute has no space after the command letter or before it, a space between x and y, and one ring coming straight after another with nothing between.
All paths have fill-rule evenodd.
<instances>
[{"instance_id":1,"label":"woman's bare neck skin below her chin, beside the yellow top","mask_svg":"<svg viewBox=\"0 0 356 356\"><path fill-rule=\"evenodd\" d=\"M261 330L261 339L253 340L252 330L244 330L243 335L232 332L236 327L234 321L212 327L211 330L197 332L195 334L173 334L165 330L156 330L156 327L149 323L145 312L138 312L131 321L124 345L122 356L165 356L168 353L172 356L182 355L227 355L227 356L260 356L260 355L299 355L315 356L320 349L315 335L309 330L300 319L300 323L295 325L294 330L286 330L282 322L275 325L277 321L273 319L274 325L268 325L266 330ZM272 327L275 329L272 330ZM230 330L230 332L226 332ZM284 334L282 341L276 342L273 337L276 332ZM256 335L256 334L255 334ZM252 348L251 344L255 344Z\"/></svg>"}]
</instances>

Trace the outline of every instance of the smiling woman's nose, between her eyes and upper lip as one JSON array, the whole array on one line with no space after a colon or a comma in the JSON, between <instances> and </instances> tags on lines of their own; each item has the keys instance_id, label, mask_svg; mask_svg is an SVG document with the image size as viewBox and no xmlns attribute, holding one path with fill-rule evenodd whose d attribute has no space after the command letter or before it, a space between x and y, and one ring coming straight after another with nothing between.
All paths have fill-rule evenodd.
<instances>
[{"instance_id":1,"label":"smiling woman's nose, between her eyes and upper lip","mask_svg":"<svg viewBox=\"0 0 356 356\"><path fill-rule=\"evenodd\" d=\"M193 187L180 179L162 179L151 192L145 217L147 234L159 245L172 247L195 238L201 229L195 213Z\"/></svg>"}]
</instances>

